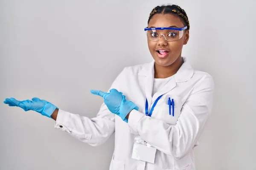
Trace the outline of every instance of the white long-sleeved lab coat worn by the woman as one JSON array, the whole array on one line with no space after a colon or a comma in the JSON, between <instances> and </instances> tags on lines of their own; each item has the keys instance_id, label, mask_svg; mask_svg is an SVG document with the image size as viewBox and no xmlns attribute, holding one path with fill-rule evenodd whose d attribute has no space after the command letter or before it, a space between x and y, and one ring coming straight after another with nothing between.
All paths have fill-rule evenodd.
<instances>
[{"instance_id":1,"label":"white long-sleeved lab coat worn by the woman","mask_svg":"<svg viewBox=\"0 0 256 170\"><path fill-rule=\"evenodd\" d=\"M116 77L111 88L139 107L139 111L131 111L128 123L102 104L92 119L60 109L55 128L92 146L104 143L115 132L110 170L195 170L193 148L212 109L214 82L209 74L193 70L186 58L183 60L177 73L154 96L154 61L126 67ZM150 109L162 94L152 116L146 116L145 99ZM168 97L175 101L174 117L169 115ZM154 164L131 158L136 136L157 149Z\"/></svg>"}]
</instances>

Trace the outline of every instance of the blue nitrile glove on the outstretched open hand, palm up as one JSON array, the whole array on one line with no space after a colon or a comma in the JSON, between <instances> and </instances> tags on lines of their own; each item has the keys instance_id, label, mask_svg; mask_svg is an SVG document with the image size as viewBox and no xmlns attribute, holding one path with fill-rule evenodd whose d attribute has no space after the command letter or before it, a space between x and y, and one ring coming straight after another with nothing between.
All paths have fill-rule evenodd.
<instances>
[{"instance_id":1,"label":"blue nitrile glove on the outstretched open hand, palm up","mask_svg":"<svg viewBox=\"0 0 256 170\"><path fill-rule=\"evenodd\" d=\"M20 107L24 111L30 111L30 110L36 111L49 118L51 118L52 113L57 108L55 105L52 105L52 103L47 102L45 100L38 99L37 97L32 98L32 101L31 100L18 101L15 98L10 98L10 99L6 98L4 103L9 106Z\"/></svg>"}]
</instances>

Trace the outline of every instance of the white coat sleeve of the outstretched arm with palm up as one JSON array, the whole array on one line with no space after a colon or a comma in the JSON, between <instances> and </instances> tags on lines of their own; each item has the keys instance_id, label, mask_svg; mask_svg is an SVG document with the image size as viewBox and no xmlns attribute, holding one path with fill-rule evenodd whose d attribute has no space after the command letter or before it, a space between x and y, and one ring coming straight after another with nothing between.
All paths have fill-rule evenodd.
<instances>
[{"instance_id":1,"label":"white coat sleeve of the outstretched arm with palm up","mask_svg":"<svg viewBox=\"0 0 256 170\"><path fill-rule=\"evenodd\" d=\"M123 72L124 70L116 77L111 88L119 89L122 85ZM104 103L97 116L92 119L59 109L55 128L69 133L82 142L98 146L115 132L115 114L111 113Z\"/></svg>"}]
</instances>

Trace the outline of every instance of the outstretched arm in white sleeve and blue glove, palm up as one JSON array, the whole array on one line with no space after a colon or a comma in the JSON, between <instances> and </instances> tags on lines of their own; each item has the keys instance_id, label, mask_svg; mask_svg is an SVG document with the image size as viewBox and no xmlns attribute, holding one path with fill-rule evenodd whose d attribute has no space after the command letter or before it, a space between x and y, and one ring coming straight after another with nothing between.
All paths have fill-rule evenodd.
<instances>
[{"instance_id":1,"label":"outstretched arm in white sleeve and blue glove, palm up","mask_svg":"<svg viewBox=\"0 0 256 170\"><path fill-rule=\"evenodd\" d=\"M122 84L120 81L122 72L116 77L111 88L119 87ZM109 111L105 104L102 104L95 118L89 119L85 116L79 116L78 114L58 109L52 103L39 98L33 98L32 101L18 101L14 98L6 98L4 103L9 106L20 107L24 111L36 111L52 118L56 121L55 128L61 129L76 139L92 146L104 143L115 131L115 115Z\"/></svg>"}]
</instances>

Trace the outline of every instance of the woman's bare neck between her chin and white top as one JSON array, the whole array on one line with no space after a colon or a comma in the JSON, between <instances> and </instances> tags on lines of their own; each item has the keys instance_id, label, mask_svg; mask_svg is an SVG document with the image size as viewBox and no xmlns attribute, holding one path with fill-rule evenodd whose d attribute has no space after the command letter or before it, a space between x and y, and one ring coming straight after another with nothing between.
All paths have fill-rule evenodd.
<instances>
[{"instance_id":1,"label":"woman's bare neck between her chin and white top","mask_svg":"<svg viewBox=\"0 0 256 170\"><path fill-rule=\"evenodd\" d=\"M156 62L154 64L154 78L163 79L171 77L177 73L182 65L182 58L179 57L174 63L168 66L158 65Z\"/></svg>"}]
</instances>

